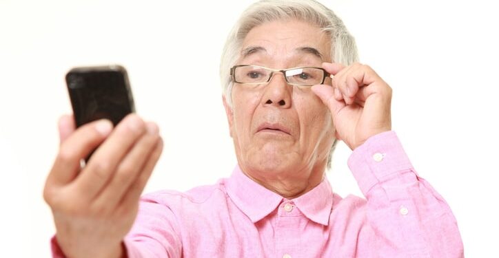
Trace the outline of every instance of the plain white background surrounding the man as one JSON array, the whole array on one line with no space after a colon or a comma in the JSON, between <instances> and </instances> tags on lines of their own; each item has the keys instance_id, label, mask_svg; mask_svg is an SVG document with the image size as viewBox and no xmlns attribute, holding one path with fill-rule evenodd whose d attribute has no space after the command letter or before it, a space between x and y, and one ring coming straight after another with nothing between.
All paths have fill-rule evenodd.
<instances>
[{"instance_id":1,"label":"plain white background surrounding the man","mask_svg":"<svg viewBox=\"0 0 499 258\"><path fill-rule=\"evenodd\" d=\"M128 69L139 114L165 149L145 189L187 190L236 164L221 102L225 36L252 1L0 0L0 257L49 257L43 184L64 75ZM356 37L360 60L394 89L393 128L420 175L450 204L467 257L499 257L496 8L485 1L323 1ZM334 191L360 195L340 144Z\"/></svg>"}]
</instances>

